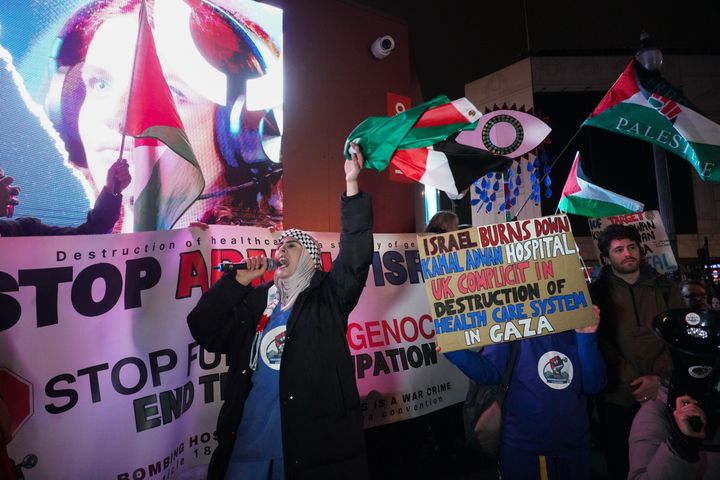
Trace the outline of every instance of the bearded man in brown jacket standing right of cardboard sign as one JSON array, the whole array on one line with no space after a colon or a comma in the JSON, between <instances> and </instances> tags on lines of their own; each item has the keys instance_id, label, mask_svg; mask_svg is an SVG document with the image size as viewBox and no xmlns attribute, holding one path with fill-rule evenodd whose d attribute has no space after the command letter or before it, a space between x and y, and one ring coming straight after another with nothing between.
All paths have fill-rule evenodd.
<instances>
[{"instance_id":1,"label":"bearded man in brown jacket standing right of cardboard sign","mask_svg":"<svg viewBox=\"0 0 720 480\"><path fill-rule=\"evenodd\" d=\"M590 285L604 321L598 331L608 384L598 403L610 478L628 474L628 435L640 404L656 397L672 361L651 331L653 318L685 305L678 287L644 262L640 235L629 225L610 225L598 237L607 259Z\"/></svg>"}]
</instances>

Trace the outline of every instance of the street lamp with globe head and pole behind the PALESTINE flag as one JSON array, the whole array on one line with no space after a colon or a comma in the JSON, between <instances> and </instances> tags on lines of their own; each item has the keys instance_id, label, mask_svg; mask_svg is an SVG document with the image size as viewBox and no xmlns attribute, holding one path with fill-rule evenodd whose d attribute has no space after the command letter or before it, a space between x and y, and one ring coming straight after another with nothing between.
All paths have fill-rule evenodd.
<instances>
[{"instance_id":1,"label":"street lamp with globe head and pole behind the PALESTINE flag","mask_svg":"<svg viewBox=\"0 0 720 480\"><path fill-rule=\"evenodd\" d=\"M635 60L645 70L660 75L663 56L659 48L650 40L646 31L640 33L640 50L635 54ZM670 247L673 250L675 259L679 262L677 250L677 238L675 237L675 221L673 219L672 198L670 195L670 175L667 169L667 155L665 150L653 144L653 160L655 161L655 185L658 191L658 208L665 230L667 230Z\"/></svg>"}]
</instances>

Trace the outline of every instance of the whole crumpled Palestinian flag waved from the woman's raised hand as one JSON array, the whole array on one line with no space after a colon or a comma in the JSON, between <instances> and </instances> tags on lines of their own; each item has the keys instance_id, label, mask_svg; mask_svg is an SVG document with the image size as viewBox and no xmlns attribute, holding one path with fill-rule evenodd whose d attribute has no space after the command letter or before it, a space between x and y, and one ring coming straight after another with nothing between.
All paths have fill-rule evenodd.
<instances>
[{"instance_id":1,"label":"whole crumpled Palestinian flag waved from the woman's raised hand","mask_svg":"<svg viewBox=\"0 0 720 480\"><path fill-rule=\"evenodd\" d=\"M478 178L507 170L512 160L454 141L476 126L480 113L465 98L440 96L392 117L370 117L355 127L345 144L356 142L365 167L378 171L392 163L407 177L455 198ZM453 137L449 140L449 137Z\"/></svg>"}]
</instances>

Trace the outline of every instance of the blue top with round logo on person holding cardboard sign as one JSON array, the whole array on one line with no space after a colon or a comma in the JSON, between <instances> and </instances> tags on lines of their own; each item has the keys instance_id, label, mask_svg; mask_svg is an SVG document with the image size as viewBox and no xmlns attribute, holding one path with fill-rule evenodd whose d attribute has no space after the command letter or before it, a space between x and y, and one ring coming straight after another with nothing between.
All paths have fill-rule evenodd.
<instances>
[{"instance_id":1,"label":"blue top with round logo on person holding cardboard sign","mask_svg":"<svg viewBox=\"0 0 720 480\"><path fill-rule=\"evenodd\" d=\"M503 445L540 455L589 450L586 395L605 383L595 334L571 330L520 340L518 348L503 404ZM500 383L510 345L446 356L473 380Z\"/></svg>"}]
</instances>

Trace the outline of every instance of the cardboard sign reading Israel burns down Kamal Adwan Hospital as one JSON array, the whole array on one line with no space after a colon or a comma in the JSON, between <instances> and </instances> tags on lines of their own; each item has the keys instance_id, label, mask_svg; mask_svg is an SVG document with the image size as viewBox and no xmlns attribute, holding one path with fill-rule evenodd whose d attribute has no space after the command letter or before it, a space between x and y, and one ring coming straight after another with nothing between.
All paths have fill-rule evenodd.
<instances>
[{"instance_id":1,"label":"cardboard sign reading Israel burns down Kamal Adwan Hospital","mask_svg":"<svg viewBox=\"0 0 720 480\"><path fill-rule=\"evenodd\" d=\"M565 215L418 242L435 335L445 352L595 323Z\"/></svg>"}]
</instances>

